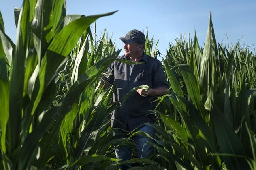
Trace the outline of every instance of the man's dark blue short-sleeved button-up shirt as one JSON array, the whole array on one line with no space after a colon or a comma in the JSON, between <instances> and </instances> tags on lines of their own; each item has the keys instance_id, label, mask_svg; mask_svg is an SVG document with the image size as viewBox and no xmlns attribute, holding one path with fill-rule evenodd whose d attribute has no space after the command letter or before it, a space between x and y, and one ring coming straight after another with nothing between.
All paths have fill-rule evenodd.
<instances>
[{"instance_id":1,"label":"man's dark blue short-sleeved button-up shirt","mask_svg":"<svg viewBox=\"0 0 256 170\"><path fill-rule=\"evenodd\" d=\"M130 60L124 55L118 58ZM119 61L109 66L106 75L109 83L114 84L113 102L122 102L127 93L140 85L148 85L149 88L169 88L162 63L159 60L144 54L138 62L142 64L136 64L133 68L132 65ZM155 116L149 110L155 109L156 104L153 102L155 99L156 97L152 96L142 97L135 91L122 107L113 112L111 126L133 130L143 123L153 123Z\"/></svg>"}]
</instances>

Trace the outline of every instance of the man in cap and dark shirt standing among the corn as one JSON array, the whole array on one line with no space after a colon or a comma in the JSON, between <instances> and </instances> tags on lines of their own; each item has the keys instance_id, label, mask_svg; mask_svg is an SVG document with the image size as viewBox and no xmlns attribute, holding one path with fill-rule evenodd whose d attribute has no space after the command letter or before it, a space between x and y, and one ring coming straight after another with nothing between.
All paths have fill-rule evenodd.
<instances>
[{"instance_id":1,"label":"man in cap and dark shirt standing among the corn","mask_svg":"<svg viewBox=\"0 0 256 170\"><path fill-rule=\"evenodd\" d=\"M156 97L169 93L169 84L166 81L162 64L156 58L144 53L145 35L138 30L129 31L125 37L120 38L124 42L124 55L118 58L129 60L141 64L125 64L115 61L109 66L106 73L108 82L114 85L113 101L121 101L134 87L148 85L149 89L137 89L132 93L124 105L117 108L112 115L111 126L119 128L114 135L127 134L135 128L137 131L144 131L154 136L154 129L151 126L140 126L144 123L154 123L155 116L149 110L154 110ZM122 131L123 129L124 131ZM144 135L133 137L136 144L139 158L148 158L153 147L147 142L153 142ZM115 149L117 158L124 160L130 159L131 149L122 146Z\"/></svg>"}]
</instances>

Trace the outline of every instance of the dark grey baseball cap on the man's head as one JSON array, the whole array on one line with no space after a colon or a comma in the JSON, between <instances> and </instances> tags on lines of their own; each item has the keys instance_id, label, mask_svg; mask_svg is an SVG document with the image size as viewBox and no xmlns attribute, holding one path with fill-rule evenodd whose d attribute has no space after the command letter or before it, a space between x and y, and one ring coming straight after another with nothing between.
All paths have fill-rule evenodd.
<instances>
[{"instance_id":1,"label":"dark grey baseball cap on the man's head","mask_svg":"<svg viewBox=\"0 0 256 170\"><path fill-rule=\"evenodd\" d=\"M134 42L139 43L139 44L145 44L145 42L146 42L145 35L137 29L132 29L125 35L125 37L121 37L120 39L125 44L131 44Z\"/></svg>"}]
</instances>

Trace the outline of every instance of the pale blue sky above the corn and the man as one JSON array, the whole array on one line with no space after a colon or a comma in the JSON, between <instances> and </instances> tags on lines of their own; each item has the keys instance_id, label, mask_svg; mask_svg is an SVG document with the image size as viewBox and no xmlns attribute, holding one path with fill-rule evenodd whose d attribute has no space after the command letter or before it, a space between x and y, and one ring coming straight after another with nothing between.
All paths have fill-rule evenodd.
<instances>
[{"instance_id":1,"label":"pale blue sky above the corn and the man","mask_svg":"<svg viewBox=\"0 0 256 170\"><path fill-rule=\"evenodd\" d=\"M0 5L6 34L14 43L16 27L13 9L21 7L22 2L6 0ZM194 30L203 46L210 10L219 43L227 45L228 37L230 45L240 40L241 46L244 42L253 51L256 46L256 0L67 0L67 14L95 15L115 10L118 12L96 21L96 30L100 36L107 29L120 49L123 43L119 37L131 29L146 32L147 27L149 37L159 40L158 49L163 56L169 43L175 43L175 38L180 35L194 38Z\"/></svg>"}]
</instances>

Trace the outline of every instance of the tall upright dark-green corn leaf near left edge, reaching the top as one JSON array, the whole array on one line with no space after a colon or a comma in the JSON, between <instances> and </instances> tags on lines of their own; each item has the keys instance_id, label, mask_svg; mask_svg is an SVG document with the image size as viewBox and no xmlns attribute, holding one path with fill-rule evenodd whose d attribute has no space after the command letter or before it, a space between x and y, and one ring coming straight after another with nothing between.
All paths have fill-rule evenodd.
<instances>
[{"instance_id":1,"label":"tall upright dark-green corn leaf near left edge, reaching the top","mask_svg":"<svg viewBox=\"0 0 256 170\"><path fill-rule=\"evenodd\" d=\"M26 44L29 39L29 1L23 2L17 26L17 44L11 73L11 86L9 98L9 126L8 126L8 152L11 154L19 145L21 132L21 115L23 103L24 65L26 58ZM15 124L15 126L13 126Z\"/></svg>"}]
</instances>

